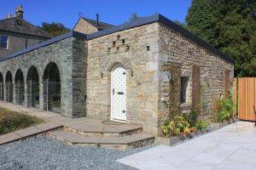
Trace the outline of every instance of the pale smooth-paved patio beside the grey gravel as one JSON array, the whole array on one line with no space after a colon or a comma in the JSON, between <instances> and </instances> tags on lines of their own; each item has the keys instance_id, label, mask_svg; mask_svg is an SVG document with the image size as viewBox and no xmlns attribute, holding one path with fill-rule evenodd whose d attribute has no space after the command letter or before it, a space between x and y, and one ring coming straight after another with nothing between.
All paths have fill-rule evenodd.
<instances>
[{"instance_id":1,"label":"pale smooth-paved patio beside the grey gravel","mask_svg":"<svg viewBox=\"0 0 256 170\"><path fill-rule=\"evenodd\" d=\"M183 144L159 145L117 161L147 170L256 170L256 127L236 122Z\"/></svg>"}]
</instances>

